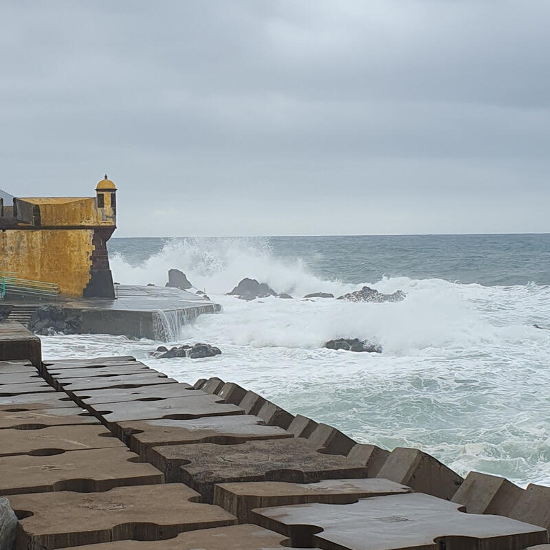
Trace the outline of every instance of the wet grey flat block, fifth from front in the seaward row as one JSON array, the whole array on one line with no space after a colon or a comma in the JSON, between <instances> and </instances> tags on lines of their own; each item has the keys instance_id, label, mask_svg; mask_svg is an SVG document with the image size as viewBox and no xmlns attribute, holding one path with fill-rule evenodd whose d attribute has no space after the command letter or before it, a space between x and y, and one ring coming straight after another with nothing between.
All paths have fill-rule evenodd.
<instances>
[{"instance_id":1,"label":"wet grey flat block, fifth from front in the seaward row","mask_svg":"<svg viewBox=\"0 0 550 550\"><path fill-rule=\"evenodd\" d=\"M217 395L195 397L168 397L158 401L123 401L90 405L94 412L117 437L123 436L120 423L128 420L173 419L190 420L220 415L242 415L236 405L223 403Z\"/></svg>"}]
</instances>

